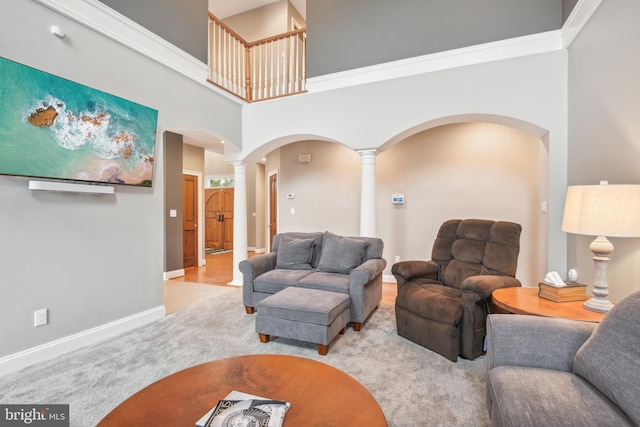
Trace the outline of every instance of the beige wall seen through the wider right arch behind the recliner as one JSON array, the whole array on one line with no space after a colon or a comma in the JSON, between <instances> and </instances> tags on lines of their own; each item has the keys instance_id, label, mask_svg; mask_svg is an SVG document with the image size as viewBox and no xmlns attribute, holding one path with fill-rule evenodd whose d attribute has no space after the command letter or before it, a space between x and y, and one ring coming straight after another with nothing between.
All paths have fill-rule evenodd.
<instances>
[{"instance_id":1,"label":"beige wall seen through the wider right arch behind the recliner","mask_svg":"<svg viewBox=\"0 0 640 427\"><path fill-rule=\"evenodd\" d=\"M518 129L462 123L415 134L380 154L377 230L387 262L430 259L448 219L512 221L522 225L517 277L523 286L537 286L547 268L541 146ZM404 194L404 205L391 203L396 193Z\"/></svg>"}]
</instances>

